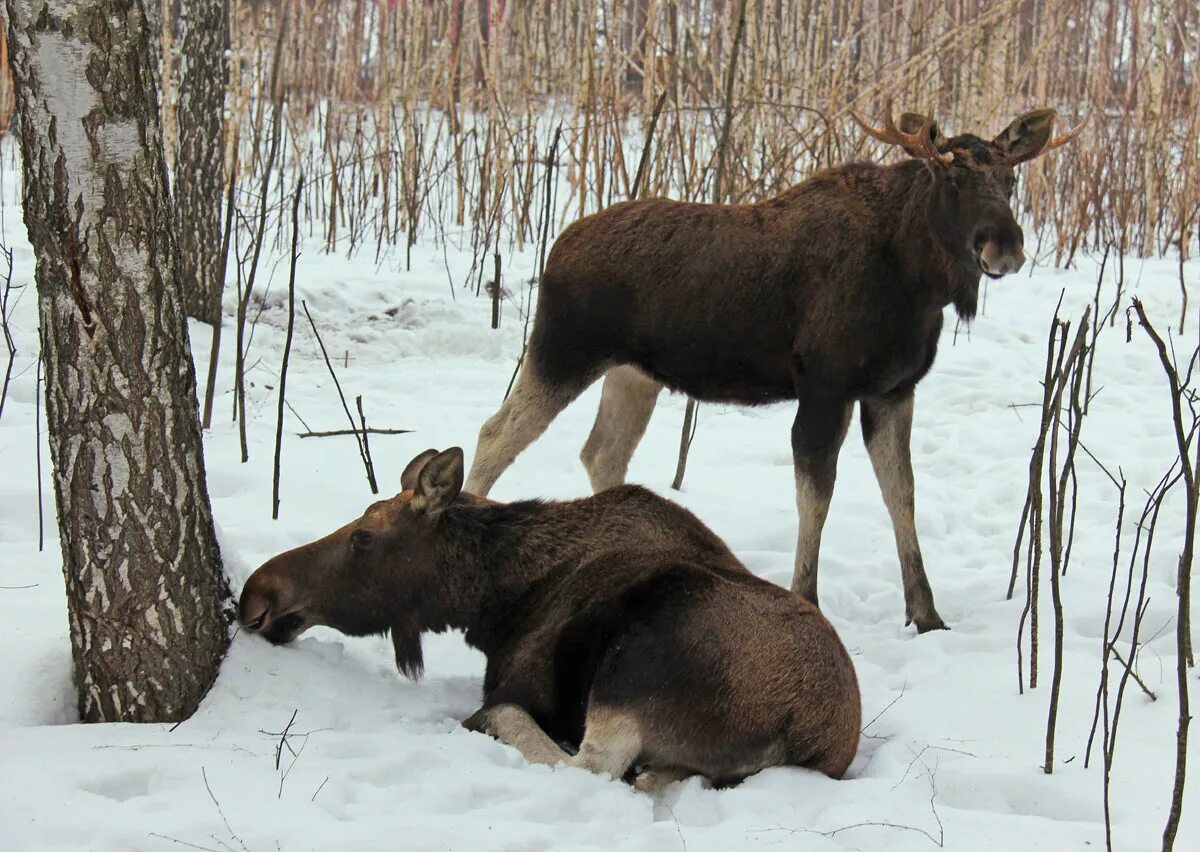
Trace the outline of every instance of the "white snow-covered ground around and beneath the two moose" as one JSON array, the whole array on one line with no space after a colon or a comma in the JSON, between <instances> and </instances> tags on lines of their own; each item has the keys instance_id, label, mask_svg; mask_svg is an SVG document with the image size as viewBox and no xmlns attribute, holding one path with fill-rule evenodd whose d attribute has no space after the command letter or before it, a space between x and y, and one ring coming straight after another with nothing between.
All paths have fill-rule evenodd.
<instances>
[{"instance_id":1,"label":"white snow-covered ground around and beneath the two moose","mask_svg":"<svg viewBox=\"0 0 1200 852\"><path fill-rule=\"evenodd\" d=\"M1006 601L1037 430L1045 336L1060 292L1063 314L1091 300L1096 265L1037 268L991 283L985 313L953 335L918 394L913 457L918 527L948 632L904 626L892 529L853 427L822 550L821 601L853 655L864 731L848 776L792 768L739 787L698 780L658 796L582 770L530 767L457 725L476 707L484 660L457 635L428 636L422 682L401 678L388 640L313 630L294 646L234 638L199 712L167 725L76 724L71 654L48 469L46 548L37 550L32 256L6 174L5 240L14 250L16 378L0 420L0 850L542 850L1103 848L1102 770L1084 748L1097 686L1116 493L1080 462L1075 550L1063 583L1066 674L1058 762L1042 770L1052 623L1043 613L1043 685L1018 692L1018 600ZM506 304L462 288L470 258L421 244L413 270L322 256L299 265L308 302L348 396L370 422L413 430L372 438L382 488L428 446L470 455L520 353L522 322ZM523 289L534 259L505 257L506 287ZM275 270L250 348L250 462L230 422L233 298L226 302L221 394L206 434L209 490L234 589L268 557L323 535L372 500L354 440L300 439L340 428L344 415L302 314L288 376L282 516L271 521L271 454L286 320L286 264ZM451 280L448 280L450 270ZM1177 322L1175 260L1127 259L1130 293L1160 325ZM1200 265L1188 276L1195 295ZM1105 299L1111 300L1111 282ZM1193 299L1193 304L1200 301ZM1189 318L1187 348L1200 317ZM206 326L192 326L208 362ZM1088 449L1130 482L1129 515L1174 452L1166 390L1148 343L1123 320L1106 329L1096 362L1103 386L1085 426ZM578 449L599 400L593 388L499 481L493 497L588 492ZM352 402L353 404L353 402ZM1015 407L1014 407L1015 406ZM697 512L756 572L791 577L796 510L787 406L701 409L683 493L668 490L683 400L664 396L630 479ZM43 464L48 467L43 437ZM1182 504L1164 511L1151 565L1140 673L1130 684L1114 774L1115 842L1157 848L1175 749L1174 572ZM1132 545L1127 535L1126 551ZM1049 590L1043 594L1049 600ZM1195 684L1195 674L1190 676ZM1196 697L1194 690L1194 700ZM697 698L700 700L700 697ZM290 724L290 727L288 727ZM280 754L281 732L289 731ZM1176 848L1200 848L1200 760ZM884 824L886 823L886 824Z\"/></svg>"}]
</instances>

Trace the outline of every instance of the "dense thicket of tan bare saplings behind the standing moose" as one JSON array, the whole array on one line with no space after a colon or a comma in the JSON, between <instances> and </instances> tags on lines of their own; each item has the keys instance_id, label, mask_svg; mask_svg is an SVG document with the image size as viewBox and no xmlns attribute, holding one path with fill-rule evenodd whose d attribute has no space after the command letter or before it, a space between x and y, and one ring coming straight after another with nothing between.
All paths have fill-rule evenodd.
<instances>
[{"instance_id":1,"label":"dense thicket of tan bare saplings behind the standing moose","mask_svg":"<svg viewBox=\"0 0 1200 852\"><path fill-rule=\"evenodd\" d=\"M558 126L570 192L552 232L628 197L665 96L643 191L710 200L743 8L727 200L892 156L848 118L878 118L887 97L950 132L994 133L1050 106L1063 125L1091 120L1075 144L1022 169L1039 259L1195 251L1190 0L232 0L227 160L240 148L240 194L252 196L282 136L275 239L302 169L302 211L330 248L383 252L466 229L486 257L498 240L536 239L539 168ZM164 20L168 146L172 29ZM284 101L278 131L272 96Z\"/></svg>"}]
</instances>

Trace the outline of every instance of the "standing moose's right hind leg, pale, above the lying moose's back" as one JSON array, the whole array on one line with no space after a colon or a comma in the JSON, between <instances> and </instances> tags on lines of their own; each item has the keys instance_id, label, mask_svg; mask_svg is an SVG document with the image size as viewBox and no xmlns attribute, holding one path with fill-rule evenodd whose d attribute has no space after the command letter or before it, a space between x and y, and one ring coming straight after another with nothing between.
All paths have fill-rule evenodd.
<instances>
[{"instance_id":1,"label":"standing moose's right hind leg, pale, above the lying moose's back","mask_svg":"<svg viewBox=\"0 0 1200 852\"><path fill-rule=\"evenodd\" d=\"M661 390L661 383L631 365L613 367L605 373L600 410L580 452L593 492L625 481L629 460L646 434Z\"/></svg>"}]
</instances>

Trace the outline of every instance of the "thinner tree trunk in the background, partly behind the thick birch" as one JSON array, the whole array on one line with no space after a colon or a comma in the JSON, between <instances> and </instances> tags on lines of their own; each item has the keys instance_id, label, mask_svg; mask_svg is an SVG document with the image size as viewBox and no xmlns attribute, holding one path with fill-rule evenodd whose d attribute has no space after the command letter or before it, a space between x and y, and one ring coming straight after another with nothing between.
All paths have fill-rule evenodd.
<instances>
[{"instance_id":1,"label":"thinner tree trunk in the background, partly behind the thick birch","mask_svg":"<svg viewBox=\"0 0 1200 852\"><path fill-rule=\"evenodd\" d=\"M223 0L184 0L181 11L174 184L179 290L188 317L220 323L226 11Z\"/></svg>"}]
</instances>

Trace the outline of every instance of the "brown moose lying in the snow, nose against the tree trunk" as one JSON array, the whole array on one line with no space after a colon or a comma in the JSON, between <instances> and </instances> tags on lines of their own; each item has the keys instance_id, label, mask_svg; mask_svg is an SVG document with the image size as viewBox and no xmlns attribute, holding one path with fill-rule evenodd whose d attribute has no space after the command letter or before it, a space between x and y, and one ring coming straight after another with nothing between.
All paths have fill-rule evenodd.
<instances>
[{"instance_id":1,"label":"brown moose lying in the snow, nose against the tree trunk","mask_svg":"<svg viewBox=\"0 0 1200 852\"><path fill-rule=\"evenodd\" d=\"M833 626L695 515L637 486L503 504L462 482L461 449L426 450L401 493L254 571L242 625L277 644L314 624L390 630L414 678L421 634L461 629L487 656L466 727L640 790L846 772L862 708Z\"/></svg>"}]
</instances>

